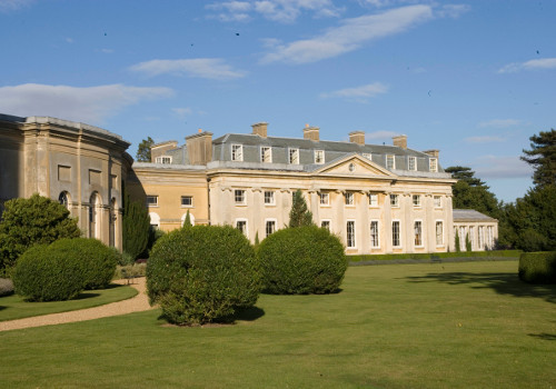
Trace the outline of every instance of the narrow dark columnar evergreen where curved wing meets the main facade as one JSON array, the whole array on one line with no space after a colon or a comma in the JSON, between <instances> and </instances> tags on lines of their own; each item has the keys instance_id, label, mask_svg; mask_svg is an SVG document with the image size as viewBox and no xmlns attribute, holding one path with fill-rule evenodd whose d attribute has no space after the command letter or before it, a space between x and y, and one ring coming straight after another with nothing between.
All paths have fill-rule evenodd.
<instances>
[{"instance_id":1,"label":"narrow dark columnar evergreen where curved wing meets the main facade","mask_svg":"<svg viewBox=\"0 0 556 389\"><path fill-rule=\"evenodd\" d=\"M146 249L149 241L150 217L145 206L139 201L131 201L125 194L122 216L123 251L131 258L137 257Z\"/></svg>"}]
</instances>

